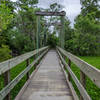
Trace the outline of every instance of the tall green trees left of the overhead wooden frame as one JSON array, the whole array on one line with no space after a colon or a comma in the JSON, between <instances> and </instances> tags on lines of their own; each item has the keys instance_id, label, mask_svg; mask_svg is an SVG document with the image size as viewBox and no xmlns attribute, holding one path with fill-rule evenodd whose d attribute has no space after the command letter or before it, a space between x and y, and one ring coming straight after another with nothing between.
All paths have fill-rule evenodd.
<instances>
[{"instance_id":1,"label":"tall green trees left of the overhead wooden frame","mask_svg":"<svg viewBox=\"0 0 100 100\"><path fill-rule=\"evenodd\" d=\"M14 55L36 48L37 17L35 11L39 10L34 7L36 3L38 0L19 0L15 3L10 0L2 0L0 4L2 20L6 22L0 23L5 25L5 28L2 28L2 35L0 35L0 45L9 45ZM14 12L14 9L17 12Z\"/></svg>"}]
</instances>

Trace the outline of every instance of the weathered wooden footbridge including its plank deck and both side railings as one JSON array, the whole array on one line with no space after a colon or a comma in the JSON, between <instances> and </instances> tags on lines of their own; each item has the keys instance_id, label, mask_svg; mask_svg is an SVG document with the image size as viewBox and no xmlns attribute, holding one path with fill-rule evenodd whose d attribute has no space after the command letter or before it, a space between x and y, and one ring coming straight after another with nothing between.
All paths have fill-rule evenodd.
<instances>
[{"instance_id":1,"label":"weathered wooden footbridge including its plank deck and both side railings","mask_svg":"<svg viewBox=\"0 0 100 100\"><path fill-rule=\"evenodd\" d=\"M29 59L37 54L38 57L29 63ZM68 64L66 58L69 59ZM23 61L27 62L26 69L11 81L10 69ZM71 62L80 69L80 81L71 70ZM30 75L29 71L34 66L37 67ZM5 87L0 91L0 100L4 98L11 100L11 90L25 75L27 75L27 81L15 100L91 100L85 90L86 76L100 88L100 70L60 47L55 50L50 50L48 46L43 47L2 62L0 75L2 74L5 76ZM71 84L71 78L80 92L80 97L77 96Z\"/></svg>"}]
</instances>

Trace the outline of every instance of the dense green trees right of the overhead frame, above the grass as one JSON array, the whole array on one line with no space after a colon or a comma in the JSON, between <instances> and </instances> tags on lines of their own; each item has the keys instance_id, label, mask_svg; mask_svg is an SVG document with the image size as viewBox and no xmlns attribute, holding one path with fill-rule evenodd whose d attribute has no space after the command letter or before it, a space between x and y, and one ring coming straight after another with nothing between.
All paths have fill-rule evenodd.
<instances>
[{"instance_id":1,"label":"dense green trees right of the overhead frame, above the grass","mask_svg":"<svg viewBox=\"0 0 100 100\"><path fill-rule=\"evenodd\" d=\"M81 0L82 11L74 29L65 22L65 49L77 55L100 55L100 9L98 0Z\"/></svg>"}]
</instances>

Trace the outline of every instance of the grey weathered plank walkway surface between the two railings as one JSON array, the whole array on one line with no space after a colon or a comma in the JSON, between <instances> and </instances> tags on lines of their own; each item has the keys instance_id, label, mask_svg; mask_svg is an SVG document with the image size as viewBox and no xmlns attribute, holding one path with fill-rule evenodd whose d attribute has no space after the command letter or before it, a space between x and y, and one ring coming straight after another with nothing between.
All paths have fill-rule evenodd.
<instances>
[{"instance_id":1,"label":"grey weathered plank walkway surface between the two railings","mask_svg":"<svg viewBox=\"0 0 100 100\"><path fill-rule=\"evenodd\" d=\"M55 50L50 50L20 100L73 100Z\"/></svg>"}]
</instances>

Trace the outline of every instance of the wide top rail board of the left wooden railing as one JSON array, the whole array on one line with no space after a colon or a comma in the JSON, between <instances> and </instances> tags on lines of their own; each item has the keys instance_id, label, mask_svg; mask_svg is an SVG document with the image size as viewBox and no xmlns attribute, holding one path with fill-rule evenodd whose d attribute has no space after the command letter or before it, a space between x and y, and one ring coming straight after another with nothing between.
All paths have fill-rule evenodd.
<instances>
[{"instance_id":1,"label":"wide top rail board of the left wooden railing","mask_svg":"<svg viewBox=\"0 0 100 100\"><path fill-rule=\"evenodd\" d=\"M15 58L12 58L10 60L7 60L7 61L0 63L0 75L3 74L4 72L6 72L7 70L12 69L13 67L15 67L16 65L25 61L26 59L36 55L37 52L41 52L43 50L46 50L47 48L48 48L48 46L40 48L38 51L34 50L34 51L31 51L31 52L25 53L21 56L18 56L18 57L15 57Z\"/></svg>"}]
</instances>

